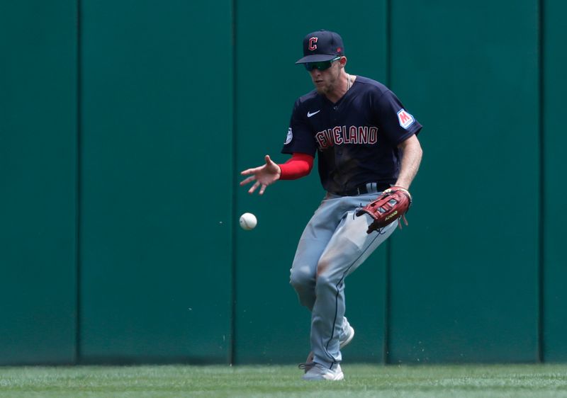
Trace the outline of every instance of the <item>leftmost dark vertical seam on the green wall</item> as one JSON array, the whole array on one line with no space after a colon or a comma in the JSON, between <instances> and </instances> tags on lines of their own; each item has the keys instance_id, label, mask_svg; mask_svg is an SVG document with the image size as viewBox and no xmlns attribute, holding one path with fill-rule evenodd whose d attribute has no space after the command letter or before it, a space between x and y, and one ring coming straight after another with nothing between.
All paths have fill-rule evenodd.
<instances>
[{"instance_id":1,"label":"leftmost dark vertical seam on the green wall","mask_svg":"<svg viewBox=\"0 0 567 398\"><path fill-rule=\"evenodd\" d=\"M75 266L76 266L76 302L75 309L75 363L81 362L81 135L82 135L82 113L81 113L81 96L82 96L82 69L81 69L81 0L77 0L77 147L75 151Z\"/></svg>"}]
</instances>

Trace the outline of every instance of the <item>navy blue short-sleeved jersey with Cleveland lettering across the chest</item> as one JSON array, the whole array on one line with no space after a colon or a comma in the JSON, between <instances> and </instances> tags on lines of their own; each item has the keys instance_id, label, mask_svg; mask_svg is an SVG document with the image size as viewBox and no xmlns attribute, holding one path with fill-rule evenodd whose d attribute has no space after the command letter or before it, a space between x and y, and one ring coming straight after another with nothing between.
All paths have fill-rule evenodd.
<instances>
[{"instance_id":1,"label":"navy blue short-sleeved jersey with Cleveland lettering across the chest","mask_svg":"<svg viewBox=\"0 0 567 398\"><path fill-rule=\"evenodd\" d=\"M421 128L386 86L357 76L337 103L315 90L298 98L281 152L318 153L323 188L342 193L365 183L395 183L397 145Z\"/></svg>"}]
</instances>

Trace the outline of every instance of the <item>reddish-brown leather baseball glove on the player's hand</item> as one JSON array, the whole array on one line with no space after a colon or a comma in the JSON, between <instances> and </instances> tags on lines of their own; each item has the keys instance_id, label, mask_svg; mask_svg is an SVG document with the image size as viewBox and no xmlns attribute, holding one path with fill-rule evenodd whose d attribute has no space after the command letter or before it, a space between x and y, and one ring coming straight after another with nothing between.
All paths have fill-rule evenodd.
<instances>
[{"instance_id":1,"label":"reddish-brown leather baseball glove on the player's hand","mask_svg":"<svg viewBox=\"0 0 567 398\"><path fill-rule=\"evenodd\" d=\"M405 213L408 212L411 205L412 195L408 190L400 186L393 186L383 191L376 200L357 211L357 216L366 213L374 218L366 231L366 234L371 234L371 232L386 227L395 220L400 223L400 217L403 217L405 224L408 225L408 221L405 220Z\"/></svg>"}]
</instances>

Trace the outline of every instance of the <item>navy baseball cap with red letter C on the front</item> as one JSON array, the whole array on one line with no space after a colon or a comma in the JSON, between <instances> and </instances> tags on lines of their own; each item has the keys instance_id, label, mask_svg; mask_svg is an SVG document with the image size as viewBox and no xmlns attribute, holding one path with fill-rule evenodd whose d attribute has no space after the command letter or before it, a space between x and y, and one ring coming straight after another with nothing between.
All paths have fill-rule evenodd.
<instances>
[{"instance_id":1,"label":"navy baseball cap with red letter C on the front","mask_svg":"<svg viewBox=\"0 0 567 398\"><path fill-rule=\"evenodd\" d=\"M329 30L318 30L309 33L303 39L303 58L296 64L305 62L330 61L337 56L344 55L344 45L338 33Z\"/></svg>"}]
</instances>

